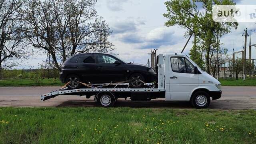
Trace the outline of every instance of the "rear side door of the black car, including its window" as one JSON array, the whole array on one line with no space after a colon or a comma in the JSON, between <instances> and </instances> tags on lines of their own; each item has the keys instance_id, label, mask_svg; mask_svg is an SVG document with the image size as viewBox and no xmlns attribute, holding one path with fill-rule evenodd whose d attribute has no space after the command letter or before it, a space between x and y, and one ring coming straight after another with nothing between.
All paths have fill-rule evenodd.
<instances>
[{"instance_id":1,"label":"rear side door of the black car, including its window","mask_svg":"<svg viewBox=\"0 0 256 144\"><path fill-rule=\"evenodd\" d=\"M95 54L82 54L77 60L77 67L83 82L94 82L97 78Z\"/></svg>"}]
</instances>

